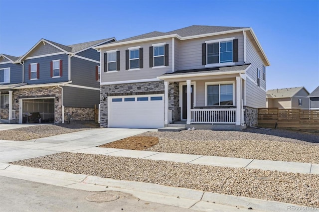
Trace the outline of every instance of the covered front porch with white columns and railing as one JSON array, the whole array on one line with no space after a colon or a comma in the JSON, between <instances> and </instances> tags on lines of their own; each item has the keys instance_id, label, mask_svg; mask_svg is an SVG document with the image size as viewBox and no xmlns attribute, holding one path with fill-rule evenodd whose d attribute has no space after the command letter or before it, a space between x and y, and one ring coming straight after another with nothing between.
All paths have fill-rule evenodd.
<instances>
[{"instance_id":1,"label":"covered front porch with white columns and railing","mask_svg":"<svg viewBox=\"0 0 319 212\"><path fill-rule=\"evenodd\" d=\"M164 125L173 127L172 123L184 121L186 129L245 128L247 67L230 73L172 73L158 77L164 80Z\"/></svg>"}]
</instances>

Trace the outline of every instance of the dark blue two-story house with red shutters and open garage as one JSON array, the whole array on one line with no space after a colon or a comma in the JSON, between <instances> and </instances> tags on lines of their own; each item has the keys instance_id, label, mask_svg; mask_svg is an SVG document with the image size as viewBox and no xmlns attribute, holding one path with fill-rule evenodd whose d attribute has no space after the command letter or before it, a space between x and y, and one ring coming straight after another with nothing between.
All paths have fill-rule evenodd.
<instances>
[{"instance_id":1,"label":"dark blue two-story house with red shutters and open garage","mask_svg":"<svg viewBox=\"0 0 319 212\"><path fill-rule=\"evenodd\" d=\"M77 120L94 120L100 96L100 53L92 47L114 41L66 46L41 39L20 58L2 54L1 119L63 123L68 113L75 112Z\"/></svg>"}]
</instances>

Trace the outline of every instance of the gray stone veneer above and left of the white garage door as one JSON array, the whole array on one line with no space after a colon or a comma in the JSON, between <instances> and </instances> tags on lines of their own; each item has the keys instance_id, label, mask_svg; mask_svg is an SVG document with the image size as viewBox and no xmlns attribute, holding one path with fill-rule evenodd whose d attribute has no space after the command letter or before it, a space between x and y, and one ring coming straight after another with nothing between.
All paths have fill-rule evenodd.
<instances>
[{"instance_id":1,"label":"gray stone veneer above and left of the white garage door","mask_svg":"<svg viewBox=\"0 0 319 212\"><path fill-rule=\"evenodd\" d=\"M100 89L100 126L108 127L108 98L110 96L131 96L164 94L164 82L128 83L105 85ZM102 97L105 97L105 101Z\"/></svg>"}]
</instances>

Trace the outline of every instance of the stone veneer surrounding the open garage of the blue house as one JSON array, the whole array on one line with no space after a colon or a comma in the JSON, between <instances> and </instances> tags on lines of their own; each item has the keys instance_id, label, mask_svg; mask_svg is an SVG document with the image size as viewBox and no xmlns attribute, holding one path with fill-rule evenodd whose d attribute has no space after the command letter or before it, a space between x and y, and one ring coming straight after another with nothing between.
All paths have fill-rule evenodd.
<instances>
[{"instance_id":1,"label":"stone veneer surrounding the open garage of the blue house","mask_svg":"<svg viewBox=\"0 0 319 212\"><path fill-rule=\"evenodd\" d=\"M30 89L16 89L13 91L12 95L12 109L15 109L15 120L19 122L19 101L16 103L14 100L17 99L27 99L27 98L44 98L53 96L59 98L59 102L54 100L55 106L55 123L60 123L62 121L62 92L57 86L54 87L42 87L42 88L30 88Z\"/></svg>"}]
</instances>

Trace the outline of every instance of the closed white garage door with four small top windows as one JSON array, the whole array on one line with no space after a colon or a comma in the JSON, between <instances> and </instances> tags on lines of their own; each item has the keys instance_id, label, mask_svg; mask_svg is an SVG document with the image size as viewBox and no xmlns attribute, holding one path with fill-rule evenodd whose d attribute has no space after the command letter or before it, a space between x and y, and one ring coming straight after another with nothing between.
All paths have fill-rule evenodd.
<instances>
[{"instance_id":1,"label":"closed white garage door with four small top windows","mask_svg":"<svg viewBox=\"0 0 319 212\"><path fill-rule=\"evenodd\" d=\"M108 127L150 129L163 126L163 95L108 97Z\"/></svg>"}]
</instances>

